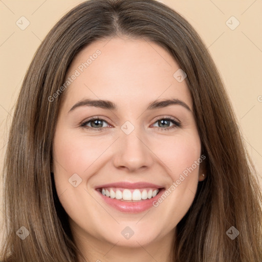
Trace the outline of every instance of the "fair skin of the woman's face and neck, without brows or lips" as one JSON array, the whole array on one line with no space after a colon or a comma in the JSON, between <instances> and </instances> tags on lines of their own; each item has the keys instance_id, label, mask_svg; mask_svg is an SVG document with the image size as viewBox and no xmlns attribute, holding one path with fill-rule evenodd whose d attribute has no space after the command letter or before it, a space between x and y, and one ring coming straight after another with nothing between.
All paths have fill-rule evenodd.
<instances>
[{"instance_id":1,"label":"fair skin of the woman's face and neck, without brows or lips","mask_svg":"<svg viewBox=\"0 0 262 262\"><path fill-rule=\"evenodd\" d=\"M173 74L179 65L162 47L144 39L117 37L93 42L73 60L70 77L96 50L101 54L76 77L64 94L53 141L54 178L59 200L69 214L74 240L90 261L169 261L176 226L191 206L202 176L198 165L158 206L123 213L108 206L95 187L114 182L149 182L169 188L201 156L193 113L181 105L146 110L156 99L180 99L192 111L186 81ZM118 110L80 106L82 99L103 99ZM80 127L101 116L103 130ZM182 127L158 130L157 117L179 120ZM121 126L135 129L126 135ZM94 125L93 125L94 126ZM82 182L69 183L77 173ZM121 234L130 227L134 235ZM121 259L121 260L120 260Z\"/></svg>"}]
</instances>

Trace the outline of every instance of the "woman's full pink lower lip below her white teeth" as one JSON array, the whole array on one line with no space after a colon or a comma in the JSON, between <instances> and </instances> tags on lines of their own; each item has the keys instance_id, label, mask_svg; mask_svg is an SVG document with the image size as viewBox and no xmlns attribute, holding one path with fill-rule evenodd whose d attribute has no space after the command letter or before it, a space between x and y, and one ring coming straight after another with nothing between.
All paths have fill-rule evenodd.
<instances>
[{"instance_id":1,"label":"woman's full pink lower lip below her white teeth","mask_svg":"<svg viewBox=\"0 0 262 262\"><path fill-rule=\"evenodd\" d=\"M105 201L106 204L114 207L115 209L121 212L140 213L153 207L153 202L157 201L160 198L161 194L164 193L164 191L165 189L162 188L154 198L137 202L124 202L117 199L112 199L110 197L106 197L100 191L97 192L101 195L101 198Z\"/></svg>"}]
</instances>

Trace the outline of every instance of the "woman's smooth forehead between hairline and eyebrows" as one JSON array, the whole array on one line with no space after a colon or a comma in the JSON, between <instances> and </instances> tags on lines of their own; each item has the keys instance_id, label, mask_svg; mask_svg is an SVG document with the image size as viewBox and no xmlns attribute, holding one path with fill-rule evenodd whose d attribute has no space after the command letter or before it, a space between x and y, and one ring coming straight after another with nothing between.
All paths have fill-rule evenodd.
<instances>
[{"instance_id":1,"label":"woman's smooth forehead between hairline and eyebrows","mask_svg":"<svg viewBox=\"0 0 262 262\"><path fill-rule=\"evenodd\" d=\"M107 99L132 107L178 98L192 108L186 81L174 77L178 70L173 57L154 42L118 37L97 40L74 58L67 78L77 77L67 88L65 100Z\"/></svg>"}]
</instances>

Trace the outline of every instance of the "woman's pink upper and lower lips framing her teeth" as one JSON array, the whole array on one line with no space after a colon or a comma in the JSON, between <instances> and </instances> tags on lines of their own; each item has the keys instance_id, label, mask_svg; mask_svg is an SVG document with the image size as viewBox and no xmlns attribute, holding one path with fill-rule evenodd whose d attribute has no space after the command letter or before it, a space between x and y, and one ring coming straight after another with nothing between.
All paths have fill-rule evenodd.
<instances>
[{"instance_id":1,"label":"woman's pink upper and lower lips framing her teeth","mask_svg":"<svg viewBox=\"0 0 262 262\"><path fill-rule=\"evenodd\" d=\"M158 194L151 199L141 200L137 202L124 202L117 199L112 199L110 197L106 197L105 195L102 195L100 192L100 189L102 187L121 187L121 188L127 188L127 189L139 189L139 188L146 188L146 187L152 187L152 188L158 188L159 192ZM161 195L165 192L165 188L163 186L146 183L146 182L139 182L139 183L128 183L128 182L119 182L119 183L111 183L111 184L105 184L100 185L96 187L97 193L100 195L102 200L109 206L113 207L114 209L124 212L124 213L140 213L148 210L149 208L153 207L153 202L158 200Z\"/></svg>"}]
</instances>

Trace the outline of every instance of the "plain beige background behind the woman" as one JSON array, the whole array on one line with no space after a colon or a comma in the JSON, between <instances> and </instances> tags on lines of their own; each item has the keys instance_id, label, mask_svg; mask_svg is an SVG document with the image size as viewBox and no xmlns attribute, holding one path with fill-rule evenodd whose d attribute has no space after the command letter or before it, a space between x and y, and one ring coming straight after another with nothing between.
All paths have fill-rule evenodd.
<instances>
[{"instance_id":1,"label":"plain beige background behind the woman","mask_svg":"<svg viewBox=\"0 0 262 262\"><path fill-rule=\"evenodd\" d=\"M128 1L128 0L127 0ZM56 21L83 1L0 1L0 169L6 150L13 105L30 61ZM198 31L219 68L247 148L262 173L262 1L163 0ZM25 16L30 25L17 25ZM234 16L239 21L237 25ZM230 18L230 19L229 19ZM229 19L229 20L228 20ZM228 22L226 23L226 21ZM25 23L25 20L23 20ZM23 23L23 24L24 24ZM21 24L21 22L20 22ZM24 24L25 25L25 24ZM260 179L262 184L262 179ZM2 183L0 186L2 200ZM2 202L2 201L1 201ZM0 204L1 204L0 202ZM0 224L3 207L0 205ZM0 228L0 232L1 232ZM1 241L0 233L0 241Z\"/></svg>"}]
</instances>

